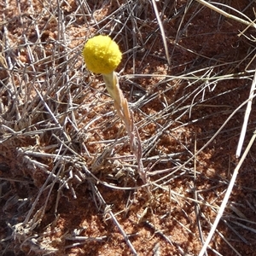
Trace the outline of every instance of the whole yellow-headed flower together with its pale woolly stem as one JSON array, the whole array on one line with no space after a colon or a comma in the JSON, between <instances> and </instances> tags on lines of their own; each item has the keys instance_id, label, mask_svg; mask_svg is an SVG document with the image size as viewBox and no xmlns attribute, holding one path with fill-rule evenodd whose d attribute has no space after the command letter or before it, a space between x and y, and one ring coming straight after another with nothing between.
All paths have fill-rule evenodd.
<instances>
[{"instance_id":1,"label":"whole yellow-headed flower together with its pale woolly stem","mask_svg":"<svg viewBox=\"0 0 256 256\"><path fill-rule=\"evenodd\" d=\"M130 137L131 151L137 158L138 173L143 183L147 183L147 172L143 168L141 138L137 126L134 124L133 113L119 88L117 73L114 72L122 58L119 46L108 36L99 35L90 38L84 44L83 55L86 66L91 72L102 73L108 93L113 98L114 108L117 110L119 118L125 123L125 129Z\"/></svg>"}]
</instances>

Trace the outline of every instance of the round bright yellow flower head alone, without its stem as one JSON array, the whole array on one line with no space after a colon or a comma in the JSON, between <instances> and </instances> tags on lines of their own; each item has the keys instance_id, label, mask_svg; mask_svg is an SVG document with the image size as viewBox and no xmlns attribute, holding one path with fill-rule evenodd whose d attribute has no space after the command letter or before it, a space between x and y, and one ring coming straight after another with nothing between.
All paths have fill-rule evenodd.
<instances>
[{"instance_id":1,"label":"round bright yellow flower head alone, without its stem","mask_svg":"<svg viewBox=\"0 0 256 256\"><path fill-rule=\"evenodd\" d=\"M122 53L108 36L90 38L83 49L84 61L87 68L93 73L112 73L118 67Z\"/></svg>"}]
</instances>

